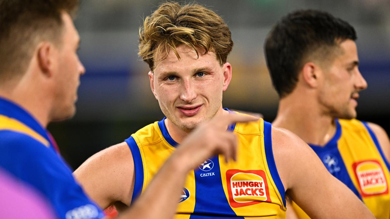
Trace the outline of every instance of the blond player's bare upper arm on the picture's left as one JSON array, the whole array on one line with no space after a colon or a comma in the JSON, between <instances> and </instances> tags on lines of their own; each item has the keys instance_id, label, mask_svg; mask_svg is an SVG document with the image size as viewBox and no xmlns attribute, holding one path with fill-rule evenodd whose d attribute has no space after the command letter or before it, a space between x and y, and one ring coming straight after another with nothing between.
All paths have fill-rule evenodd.
<instances>
[{"instance_id":1,"label":"blond player's bare upper arm on the picture's left","mask_svg":"<svg viewBox=\"0 0 390 219\"><path fill-rule=\"evenodd\" d=\"M126 142L92 155L73 173L85 193L105 209L116 201L130 205L134 189L134 161Z\"/></svg>"}]
</instances>

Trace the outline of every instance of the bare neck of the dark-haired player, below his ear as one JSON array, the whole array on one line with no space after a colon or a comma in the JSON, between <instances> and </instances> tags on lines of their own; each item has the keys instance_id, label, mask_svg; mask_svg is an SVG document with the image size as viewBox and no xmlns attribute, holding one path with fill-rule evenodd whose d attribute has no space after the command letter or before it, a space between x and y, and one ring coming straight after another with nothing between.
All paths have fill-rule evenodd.
<instances>
[{"instance_id":1,"label":"bare neck of the dark-haired player, below his ear","mask_svg":"<svg viewBox=\"0 0 390 219\"><path fill-rule=\"evenodd\" d=\"M336 132L334 118L323 113L318 104L308 104L316 103L310 97L302 100L290 95L279 101L272 124L294 132L307 143L324 146Z\"/></svg>"}]
</instances>

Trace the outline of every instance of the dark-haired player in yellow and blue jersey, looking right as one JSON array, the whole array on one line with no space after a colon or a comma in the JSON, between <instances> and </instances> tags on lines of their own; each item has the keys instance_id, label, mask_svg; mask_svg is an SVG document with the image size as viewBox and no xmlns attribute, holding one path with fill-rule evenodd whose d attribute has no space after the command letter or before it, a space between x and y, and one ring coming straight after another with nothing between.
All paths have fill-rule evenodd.
<instances>
[{"instance_id":1,"label":"dark-haired player in yellow and blue jersey, looking right","mask_svg":"<svg viewBox=\"0 0 390 219\"><path fill-rule=\"evenodd\" d=\"M296 11L278 21L265 43L280 97L273 125L309 143L376 218L388 219L390 142L378 125L355 119L358 93L367 88L355 40L349 23L326 12Z\"/></svg>"}]
</instances>

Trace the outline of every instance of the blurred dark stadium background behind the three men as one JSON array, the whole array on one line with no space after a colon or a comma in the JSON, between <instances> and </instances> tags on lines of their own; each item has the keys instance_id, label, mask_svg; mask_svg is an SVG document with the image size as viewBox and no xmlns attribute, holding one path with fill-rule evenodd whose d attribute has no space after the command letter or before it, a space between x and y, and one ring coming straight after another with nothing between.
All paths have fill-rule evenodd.
<instances>
[{"instance_id":1,"label":"blurred dark stadium background behind the three men","mask_svg":"<svg viewBox=\"0 0 390 219\"><path fill-rule=\"evenodd\" d=\"M138 27L157 0L82 0L75 24L81 36L81 78L76 116L50 124L62 155L77 168L90 155L122 142L163 114L149 87L147 65L137 56ZM278 97L264 60L271 26L296 9L320 9L349 21L358 33L360 71L368 89L360 93L358 118L390 132L389 0L198 0L228 23L234 48L228 57L233 79L223 106L276 115ZM304 101L304 100L302 100Z\"/></svg>"}]
</instances>

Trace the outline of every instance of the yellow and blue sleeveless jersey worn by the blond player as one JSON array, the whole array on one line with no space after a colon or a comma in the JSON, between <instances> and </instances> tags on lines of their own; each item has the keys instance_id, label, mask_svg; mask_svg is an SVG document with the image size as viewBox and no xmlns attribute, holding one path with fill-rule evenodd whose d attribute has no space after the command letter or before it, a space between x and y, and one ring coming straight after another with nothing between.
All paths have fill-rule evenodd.
<instances>
[{"instance_id":1,"label":"yellow and blue sleeveless jersey worn by the blond player","mask_svg":"<svg viewBox=\"0 0 390 219\"><path fill-rule=\"evenodd\" d=\"M135 165L133 199L145 191L177 146L164 120L125 140ZM261 119L232 124L229 130L238 137L237 162L226 163L219 155L191 171L178 197L175 218L285 218L285 190L273 159L271 124Z\"/></svg>"}]
</instances>

